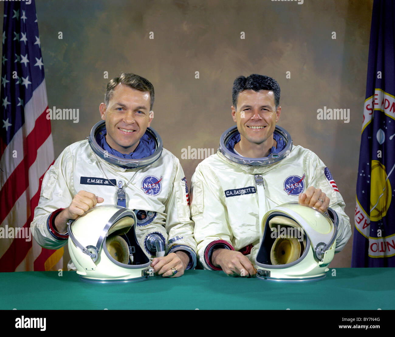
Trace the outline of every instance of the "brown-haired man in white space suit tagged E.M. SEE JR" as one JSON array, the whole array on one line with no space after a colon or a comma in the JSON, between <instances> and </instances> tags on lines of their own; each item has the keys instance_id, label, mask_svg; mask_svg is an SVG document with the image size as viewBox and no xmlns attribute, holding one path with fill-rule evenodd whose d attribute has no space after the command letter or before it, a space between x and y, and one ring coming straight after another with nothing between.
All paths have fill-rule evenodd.
<instances>
[{"instance_id":1,"label":"brown-haired man in white space suit tagged E.M. SEE JR","mask_svg":"<svg viewBox=\"0 0 395 337\"><path fill-rule=\"evenodd\" d=\"M163 148L151 128L154 87L123 73L107 84L103 121L90 137L68 146L43 178L31 223L36 241L57 249L67 243L67 223L98 203L135 211L140 247L152 257L156 275L177 277L196 265L186 178L179 160ZM104 122L105 121L105 122ZM152 234L166 256L154 257Z\"/></svg>"}]
</instances>

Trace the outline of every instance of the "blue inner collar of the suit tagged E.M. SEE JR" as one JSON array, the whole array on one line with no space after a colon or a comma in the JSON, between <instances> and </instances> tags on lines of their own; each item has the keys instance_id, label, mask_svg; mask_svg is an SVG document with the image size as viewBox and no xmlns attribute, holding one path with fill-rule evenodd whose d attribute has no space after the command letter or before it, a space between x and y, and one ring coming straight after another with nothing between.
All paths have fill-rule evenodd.
<instances>
[{"instance_id":1,"label":"blue inner collar of the suit tagged E.M. SEE JR","mask_svg":"<svg viewBox=\"0 0 395 337\"><path fill-rule=\"evenodd\" d=\"M145 131L145 134L143 134L143 136L140 138L139 144L137 145L137 148L135 148L134 152L130 152L129 154L120 153L117 150L111 148L111 146L109 146L107 141L105 140L106 134L106 129L103 129L101 134L98 133L96 135L96 142L98 142L98 145L103 150L107 151L112 155L115 155L116 157L125 159L142 159L145 157L149 157L156 150L156 142L152 138L152 136L147 133L147 131Z\"/></svg>"}]
</instances>

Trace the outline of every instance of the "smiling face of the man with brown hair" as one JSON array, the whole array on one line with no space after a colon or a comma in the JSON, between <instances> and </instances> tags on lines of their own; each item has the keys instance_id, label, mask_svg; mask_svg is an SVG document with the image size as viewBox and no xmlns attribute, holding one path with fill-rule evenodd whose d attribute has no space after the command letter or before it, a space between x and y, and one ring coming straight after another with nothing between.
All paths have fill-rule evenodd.
<instances>
[{"instance_id":1,"label":"smiling face of the man with brown hair","mask_svg":"<svg viewBox=\"0 0 395 337\"><path fill-rule=\"evenodd\" d=\"M99 110L105 121L108 145L124 154L137 148L153 118L150 116L149 92L132 89L122 83L115 87L108 106L102 103Z\"/></svg>"}]
</instances>

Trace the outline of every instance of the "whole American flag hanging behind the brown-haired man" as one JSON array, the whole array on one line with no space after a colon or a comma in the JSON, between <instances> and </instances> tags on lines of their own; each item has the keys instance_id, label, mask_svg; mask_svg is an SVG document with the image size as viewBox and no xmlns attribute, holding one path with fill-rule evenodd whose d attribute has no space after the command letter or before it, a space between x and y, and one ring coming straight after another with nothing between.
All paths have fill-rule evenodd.
<instances>
[{"instance_id":1,"label":"whole American flag hanging behind the brown-haired man","mask_svg":"<svg viewBox=\"0 0 395 337\"><path fill-rule=\"evenodd\" d=\"M54 161L34 0L4 3L2 38L0 271L49 270L62 260L63 248L43 249L30 232L43 176Z\"/></svg>"}]
</instances>

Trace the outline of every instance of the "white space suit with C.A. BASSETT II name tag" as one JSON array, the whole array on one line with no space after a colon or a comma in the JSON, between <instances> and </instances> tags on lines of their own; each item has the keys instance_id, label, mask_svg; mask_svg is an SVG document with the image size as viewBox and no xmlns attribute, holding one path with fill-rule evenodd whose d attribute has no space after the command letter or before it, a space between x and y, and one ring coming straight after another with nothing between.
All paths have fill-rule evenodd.
<instances>
[{"instance_id":1,"label":"white space suit with C.A. BASSETT II name tag","mask_svg":"<svg viewBox=\"0 0 395 337\"><path fill-rule=\"evenodd\" d=\"M322 189L330 199L329 207L337 213L335 252L340 252L351 236L350 220L333 177L320 158L301 146L292 147L289 134L280 127L276 127L274 136L277 144L285 144L284 150L262 161L244 158L233 151L235 134L236 127L228 129L217 153L203 160L192 176L190 210L198 260L203 267L220 270L211 262L215 248L241 251L254 264L260 241L258 214L298 201L299 194L310 186ZM233 143L229 142L232 137ZM256 174L262 176L264 183L260 201Z\"/></svg>"}]
</instances>

